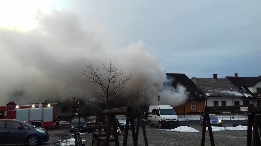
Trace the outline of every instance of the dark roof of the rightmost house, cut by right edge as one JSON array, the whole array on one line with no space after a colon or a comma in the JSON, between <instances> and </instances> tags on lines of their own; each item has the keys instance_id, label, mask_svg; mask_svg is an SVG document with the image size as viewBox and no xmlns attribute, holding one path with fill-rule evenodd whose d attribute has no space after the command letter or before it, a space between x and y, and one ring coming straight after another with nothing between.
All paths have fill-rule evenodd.
<instances>
[{"instance_id":1,"label":"dark roof of the rightmost house, cut by right edge","mask_svg":"<svg viewBox=\"0 0 261 146\"><path fill-rule=\"evenodd\" d=\"M256 83L261 81L261 76L258 77L226 77L230 80L234 85L240 87L252 87L255 86Z\"/></svg>"}]
</instances>

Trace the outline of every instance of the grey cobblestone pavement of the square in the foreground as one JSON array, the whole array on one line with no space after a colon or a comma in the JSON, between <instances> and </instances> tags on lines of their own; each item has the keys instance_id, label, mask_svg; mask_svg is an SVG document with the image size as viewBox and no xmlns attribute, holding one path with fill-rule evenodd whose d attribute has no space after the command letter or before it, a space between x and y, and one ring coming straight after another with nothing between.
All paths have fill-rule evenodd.
<instances>
[{"instance_id":1,"label":"grey cobblestone pavement of the square in the foreground","mask_svg":"<svg viewBox=\"0 0 261 146\"><path fill-rule=\"evenodd\" d=\"M146 134L148 138L149 146L158 145L175 145L175 146L198 146L201 144L201 131L202 126L199 124L191 124L190 127L199 130L197 133L183 133L175 131L159 130L157 127L149 127L146 125ZM232 124L223 125L224 127L232 127ZM65 140L72 138L69 133L68 127L60 127L59 129L49 130L50 140L47 143L40 144L42 146L57 146L59 140ZM247 130L227 130L227 131L213 131L214 141L216 146L245 146L247 141ZM92 134L81 135L86 140L86 146L90 146L92 143ZM119 136L119 143L122 145L123 136ZM131 130L128 134L128 145L133 145ZM111 146L114 143L110 143ZM143 146L144 139L142 134L142 128L139 131L138 145ZM208 131L206 131L205 145L210 145L210 139ZM25 145L23 145L25 146Z\"/></svg>"}]
</instances>

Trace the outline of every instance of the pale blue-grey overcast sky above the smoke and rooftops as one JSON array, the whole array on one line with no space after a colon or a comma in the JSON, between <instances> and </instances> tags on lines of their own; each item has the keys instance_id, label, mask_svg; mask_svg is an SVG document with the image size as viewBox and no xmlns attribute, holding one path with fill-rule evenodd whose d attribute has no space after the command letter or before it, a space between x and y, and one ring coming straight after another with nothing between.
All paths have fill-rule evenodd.
<instances>
[{"instance_id":1,"label":"pale blue-grey overcast sky above the smoke and rooftops","mask_svg":"<svg viewBox=\"0 0 261 146\"><path fill-rule=\"evenodd\" d=\"M143 41L167 73L261 74L261 1L59 1L109 30L119 47Z\"/></svg>"}]
</instances>

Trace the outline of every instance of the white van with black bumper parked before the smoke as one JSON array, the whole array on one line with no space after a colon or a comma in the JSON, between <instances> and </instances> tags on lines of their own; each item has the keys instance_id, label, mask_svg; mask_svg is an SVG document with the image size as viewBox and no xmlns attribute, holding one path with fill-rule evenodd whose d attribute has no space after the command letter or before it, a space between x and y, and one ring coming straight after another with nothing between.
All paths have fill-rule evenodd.
<instances>
[{"instance_id":1,"label":"white van with black bumper parked before the smoke","mask_svg":"<svg viewBox=\"0 0 261 146\"><path fill-rule=\"evenodd\" d=\"M178 125L178 116L171 105L150 105L149 112L155 112L149 114L149 126L157 125L159 128L168 127L171 125Z\"/></svg>"}]
</instances>

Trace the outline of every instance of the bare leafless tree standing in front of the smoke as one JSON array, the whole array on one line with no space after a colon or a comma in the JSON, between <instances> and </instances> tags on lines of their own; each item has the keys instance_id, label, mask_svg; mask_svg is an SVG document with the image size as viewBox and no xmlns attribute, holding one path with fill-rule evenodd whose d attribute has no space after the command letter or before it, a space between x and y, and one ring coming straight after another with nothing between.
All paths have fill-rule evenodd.
<instances>
[{"instance_id":1,"label":"bare leafless tree standing in front of the smoke","mask_svg":"<svg viewBox=\"0 0 261 146\"><path fill-rule=\"evenodd\" d=\"M85 101L96 105L106 104L106 107L109 107L110 104L127 100L146 90L146 88L143 88L142 90L128 92L126 87L127 82L132 79L131 73L125 75L126 71L116 68L111 61L108 66L104 63L102 66L103 72L99 70L99 66L95 66L93 62L89 61L86 68L82 70L85 76L84 82L99 87L99 90L90 93L90 95L85 95Z\"/></svg>"}]
</instances>

